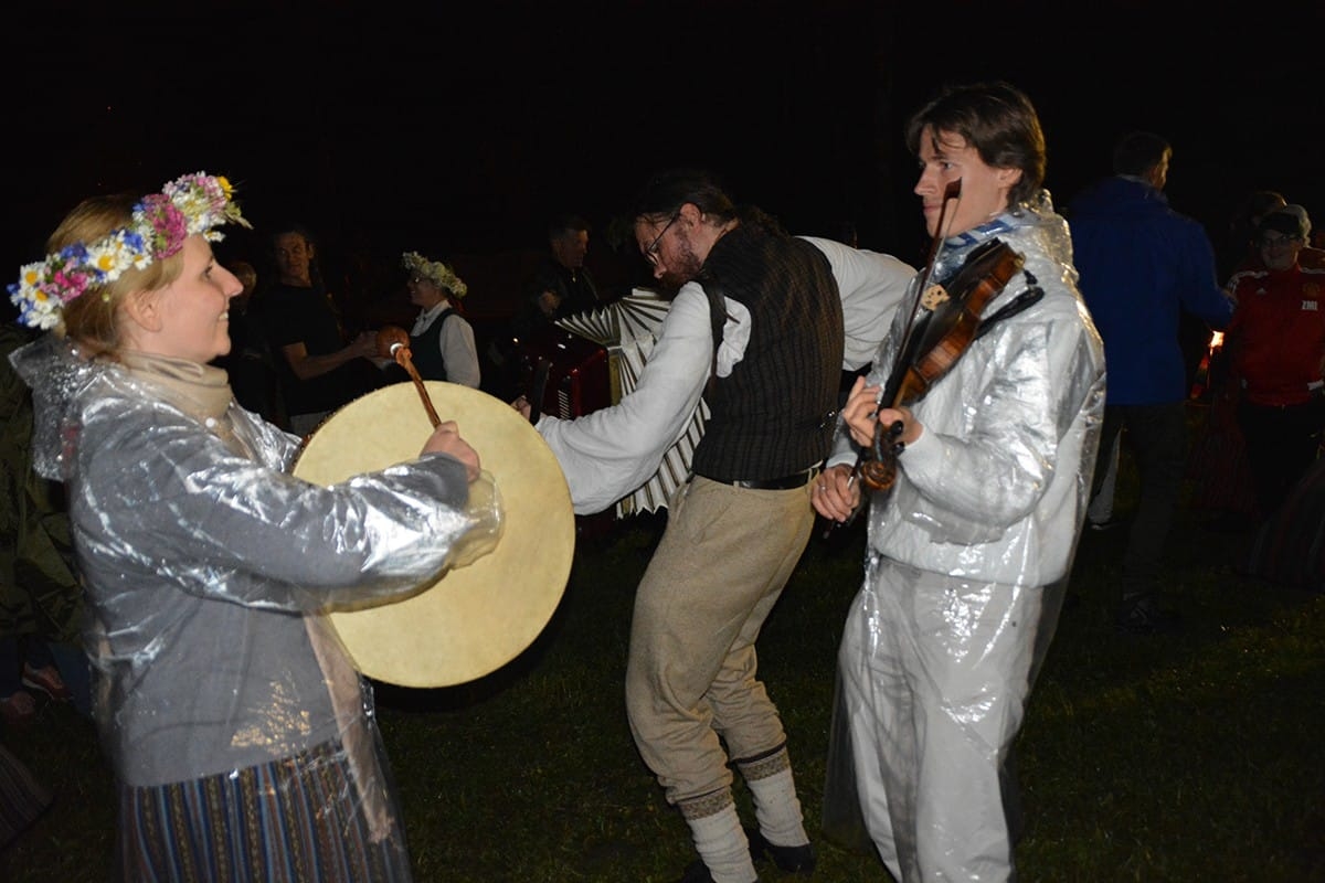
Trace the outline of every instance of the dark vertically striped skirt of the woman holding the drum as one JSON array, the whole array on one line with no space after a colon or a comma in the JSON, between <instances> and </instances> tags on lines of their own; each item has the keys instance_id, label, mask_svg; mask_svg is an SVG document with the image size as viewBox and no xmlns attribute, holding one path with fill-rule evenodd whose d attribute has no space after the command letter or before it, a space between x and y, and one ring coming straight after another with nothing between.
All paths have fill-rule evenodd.
<instances>
[{"instance_id":1,"label":"dark vertically striped skirt of the woman holding the drum","mask_svg":"<svg viewBox=\"0 0 1325 883\"><path fill-rule=\"evenodd\" d=\"M408 883L399 813L374 843L339 743L187 782L121 786L125 883Z\"/></svg>"}]
</instances>

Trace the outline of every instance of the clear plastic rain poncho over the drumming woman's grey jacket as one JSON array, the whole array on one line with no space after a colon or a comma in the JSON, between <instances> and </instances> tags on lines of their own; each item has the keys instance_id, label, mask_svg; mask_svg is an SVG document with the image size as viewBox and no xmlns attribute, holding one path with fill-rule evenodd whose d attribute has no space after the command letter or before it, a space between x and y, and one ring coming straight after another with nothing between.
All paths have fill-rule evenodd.
<instances>
[{"instance_id":1,"label":"clear plastic rain poncho over the drumming woman's grey jacket","mask_svg":"<svg viewBox=\"0 0 1325 883\"><path fill-rule=\"evenodd\" d=\"M117 777L188 781L330 743L359 793L327 800L375 835L395 827L371 690L319 614L489 551L490 477L470 488L462 463L428 454L322 487L289 474L299 440L236 405L220 369L87 361L54 335L12 363L33 389L34 466L68 486Z\"/></svg>"}]
</instances>

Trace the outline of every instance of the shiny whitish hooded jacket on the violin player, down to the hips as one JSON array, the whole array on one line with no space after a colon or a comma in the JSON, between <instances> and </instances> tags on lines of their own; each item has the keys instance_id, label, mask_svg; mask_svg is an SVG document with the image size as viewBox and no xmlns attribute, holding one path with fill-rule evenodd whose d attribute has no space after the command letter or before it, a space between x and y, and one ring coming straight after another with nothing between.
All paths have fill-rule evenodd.
<instances>
[{"instance_id":1,"label":"shiny whitish hooded jacket on the violin player, down to the hips","mask_svg":"<svg viewBox=\"0 0 1325 883\"><path fill-rule=\"evenodd\" d=\"M1047 192L947 240L933 278L995 236L1026 263L983 315L1026 291L1027 274L1044 297L978 338L910 405L925 432L897 458L892 491L871 500L869 544L934 573L1040 586L1071 569L1089 502L1104 349L1077 290L1067 222ZM917 283L874 359L872 385L888 381ZM855 450L839 421L829 465L853 462Z\"/></svg>"}]
</instances>

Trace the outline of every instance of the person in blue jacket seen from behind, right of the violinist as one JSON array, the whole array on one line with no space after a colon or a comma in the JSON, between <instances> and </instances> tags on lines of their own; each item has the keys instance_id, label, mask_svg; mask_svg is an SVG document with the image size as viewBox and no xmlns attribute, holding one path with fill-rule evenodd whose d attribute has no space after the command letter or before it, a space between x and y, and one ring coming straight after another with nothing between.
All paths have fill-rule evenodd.
<instances>
[{"instance_id":1,"label":"person in blue jacket seen from behind, right of the violinist","mask_svg":"<svg viewBox=\"0 0 1325 883\"><path fill-rule=\"evenodd\" d=\"M1158 597L1165 539L1187 462L1187 365L1183 314L1220 331L1232 301L1219 286L1204 228L1163 193L1173 147L1154 132L1129 132L1113 150L1113 175L1068 207L1073 262L1104 339L1108 396L1102 438L1125 429L1140 499L1122 560L1117 624L1133 633L1170 631L1177 612ZM1094 471L1096 483L1106 474Z\"/></svg>"}]
</instances>

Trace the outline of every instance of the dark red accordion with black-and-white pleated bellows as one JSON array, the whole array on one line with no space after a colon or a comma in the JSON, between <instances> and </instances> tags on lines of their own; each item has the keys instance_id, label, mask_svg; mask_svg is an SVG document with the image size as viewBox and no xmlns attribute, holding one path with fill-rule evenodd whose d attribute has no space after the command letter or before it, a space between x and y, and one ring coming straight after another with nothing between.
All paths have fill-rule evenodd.
<instances>
[{"instance_id":1,"label":"dark red accordion with black-and-white pleated bellows","mask_svg":"<svg viewBox=\"0 0 1325 883\"><path fill-rule=\"evenodd\" d=\"M635 289L599 310L560 319L550 332L525 342L521 371L530 402L539 413L563 420L617 404L635 389L670 306L648 289ZM690 477L690 458L708 417L708 405L700 400L657 471L617 500L617 518L666 507L672 492Z\"/></svg>"}]
</instances>

